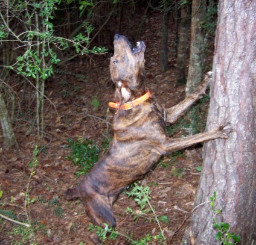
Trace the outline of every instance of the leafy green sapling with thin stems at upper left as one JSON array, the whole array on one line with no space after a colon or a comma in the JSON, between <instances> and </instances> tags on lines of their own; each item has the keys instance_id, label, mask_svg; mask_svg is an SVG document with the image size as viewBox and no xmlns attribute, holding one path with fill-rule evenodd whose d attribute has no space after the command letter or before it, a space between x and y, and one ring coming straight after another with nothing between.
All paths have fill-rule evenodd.
<instances>
[{"instance_id":1,"label":"leafy green sapling with thin stems at upper left","mask_svg":"<svg viewBox=\"0 0 256 245\"><path fill-rule=\"evenodd\" d=\"M14 61L7 58L7 52L3 53L3 61L6 62L4 63L4 70L16 71L35 88L36 111L33 120L36 122L37 135L41 137L44 128L45 81L53 74L54 65L60 62L58 51L64 51L70 46L74 47L77 54L82 55L105 51L103 48L95 46L89 48L91 45L89 34L93 28L88 22L83 22L79 29L83 29L86 36L82 33L74 34L74 32L71 34L72 39L56 35L53 19L58 2L60 3L57 0L43 0L38 3L34 1L6 1L1 4L0 9L2 21L0 40L5 43L7 51L11 49L8 43L16 49L16 55L11 55L16 58ZM92 2L88 2L88 5L91 4ZM10 61L13 61L13 64L10 64ZM1 104L4 105L3 96L1 99ZM3 115L5 114L0 114L0 116ZM2 117L1 122L5 122L6 119L7 117ZM10 122L8 125L11 125ZM10 129L10 127L8 128ZM5 134L5 137L8 135L12 134ZM8 141L12 142L10 138Z\"/></svg>"}]
</instances>

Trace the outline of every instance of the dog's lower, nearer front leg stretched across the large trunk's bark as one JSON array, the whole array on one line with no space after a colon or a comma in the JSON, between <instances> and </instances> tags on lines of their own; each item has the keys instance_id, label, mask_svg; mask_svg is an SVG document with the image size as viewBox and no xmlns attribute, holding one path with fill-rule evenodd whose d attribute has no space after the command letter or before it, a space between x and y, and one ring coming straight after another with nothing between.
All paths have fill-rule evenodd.
<instances>
[{"instance_id":1,"label":"dog's lower, nearer front leg stretched across the large trunk's bark","mask_svg":"<svg viewBox=\"0 0 256 245\"><path fill-rule=\"evenodd\" d=\"M185 138L170 138L163 144L164 153L181 150L185 147L193 146L200 142L216 140L217 138L229 138L229 134L233 131L231 123L225 123L222 126L212 129L208 132L188 136Z\"/></svg>"}]
</instances>

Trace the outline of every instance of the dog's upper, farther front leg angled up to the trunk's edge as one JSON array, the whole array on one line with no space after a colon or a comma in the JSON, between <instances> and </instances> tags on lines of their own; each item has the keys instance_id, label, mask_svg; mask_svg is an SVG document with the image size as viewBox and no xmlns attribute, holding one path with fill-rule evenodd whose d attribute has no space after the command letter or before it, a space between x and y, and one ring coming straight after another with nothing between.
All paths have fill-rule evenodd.
<instances>
[{"instance_id":1,"label":"dog's upper, farther front leg angled up to the trunk's edge","mask_svg":"<svg viewBox=\"0 0 256 245\"><path fill-rule=\"evenodd\" d=\"M184 114L185 111L190 108L190 106L197 101L198 99L202 98L202 95L205 94L205 90L208 86L208 84L211 81L211 75L213 72L208 72L205 75L205 78L203 79L203 82L199 85L196 91L194 93L191 93L191 95L187 96L183 101L181 101L179 104L174 105L171 108L165 109L165 112L167 114L166 116L166 122L168 123L174 123L176 120Z\"/></svg>"}]
</instances>

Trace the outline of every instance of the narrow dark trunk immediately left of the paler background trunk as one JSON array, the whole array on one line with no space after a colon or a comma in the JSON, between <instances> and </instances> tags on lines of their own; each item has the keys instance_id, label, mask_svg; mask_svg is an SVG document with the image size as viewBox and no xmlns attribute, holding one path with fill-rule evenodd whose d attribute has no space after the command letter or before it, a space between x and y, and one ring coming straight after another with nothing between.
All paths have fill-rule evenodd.
<instances>
[{"instance_id":1,"label":"narrow dark trunk immediately left of the paler background trunk","mask_svg":"<svg viewBox=\"0 0 256 245\"><path fill-rule=\"evenodd\" d=\"M181 23L179 24L179 43L178 43L178 57L177 70L178 78L177 85L185 85L186 79L186 61L187 61L187 46L188 46L188 29L190 28L190 5L183 4L181 7Z\"/></svg>"}]
</instances>

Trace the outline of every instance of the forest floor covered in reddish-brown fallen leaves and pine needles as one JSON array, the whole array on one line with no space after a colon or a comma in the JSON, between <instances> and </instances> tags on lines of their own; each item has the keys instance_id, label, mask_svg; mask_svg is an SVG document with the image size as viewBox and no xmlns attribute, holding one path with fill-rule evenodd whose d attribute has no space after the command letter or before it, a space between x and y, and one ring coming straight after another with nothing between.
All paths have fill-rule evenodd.
<instances>
[{"instance_id":1,"label":"forest floor covered in reddish-brown fallen leaves and pine needles","mask_svg":"<svg viewBox=\"0 0 256 245\"><path fill-rule=\"evenodd\" d=\"M146 85L161 104L171 107L184 98L185 87L175 86L174 60L170 60L168 72L162 73L159 67L160 22L161 16L153 16L142 34L147 46ZM174 26L170 26L169 32L171 40L174 38ZM28 131L24 123L16 127L19 147L1 147L0 214L25 223L28 217L34 237L30 237L31 229L0 219L0 244L31 244L31 240L36 241L34 244L92 244L88 231L90 220L84 206L79 201L68 202L63 198L66 188L81 181L74 175L78 167L66 158L71 149L65 146L67 138L89 138L100 147L112 136L111 126L106 123L111 123L114 115L114 111L107 107L107 102L114 98L114 84L109 73L111 52L109 50L108 54L94 57L91 67L86 57L78 57L62 66L51 82L47 82L45 95L56 110L45 102L46 134L43 140L37 140L35 132ZM92 105L94 99L99 102L98 107ZM176 127L170 136L181 137L182 133L182 127ZM38 166L31 176L29 164L33 162L36 144L40 150L37 154ZM143 186L150 187L150 203L155 208L156 216L164 217L160 225L167 244L181 244L182 235L190 223L200 178L197 167L202 164L201 153L202 148L191 147L162 157L155 170L141 181ZM26 200L26 197L29 199ZM160 232L158 224L152 219L136 219L135 215L126 212L127 207L139 213L135 200L123 192L113 207L117 218L116 230L133 240L149 234L152 241L148 244L158 244L158 240L153 238ZM146 216L152 217L150 212ZM124 237L118 237L104 244L129 242Z\"/></svg>"}]
</instances>

